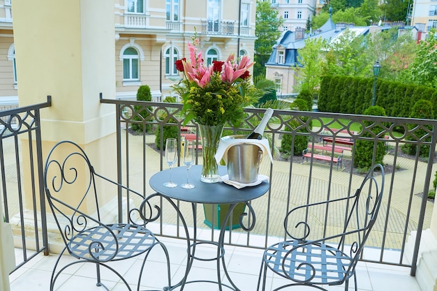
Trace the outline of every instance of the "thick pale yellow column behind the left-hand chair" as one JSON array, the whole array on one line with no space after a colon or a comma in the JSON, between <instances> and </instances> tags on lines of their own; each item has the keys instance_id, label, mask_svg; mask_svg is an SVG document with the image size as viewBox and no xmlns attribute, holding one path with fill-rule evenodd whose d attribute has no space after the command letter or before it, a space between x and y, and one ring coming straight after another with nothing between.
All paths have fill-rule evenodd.
<instances>
[{"instance_id":1,"label":"thick pale yellow column behind the left-hand chair","mask_svg":"<svg viewBox=\"0 0 437 291\"><path fill-rule=\"evenodd\" d=\"M55 143L71 140L99 173L115 179L115 107L99 100L101 92L105 98L115 96L114 2L14 0L12 10L20 106L52 96L52 106L41 111L43 159ZM23 156L29 151L25 138ZM22 162L29 167L29 161ZM30 207L27 178L25 203ZM117 193L108 194L105 201Z\"/></svg>"}]
</instances>

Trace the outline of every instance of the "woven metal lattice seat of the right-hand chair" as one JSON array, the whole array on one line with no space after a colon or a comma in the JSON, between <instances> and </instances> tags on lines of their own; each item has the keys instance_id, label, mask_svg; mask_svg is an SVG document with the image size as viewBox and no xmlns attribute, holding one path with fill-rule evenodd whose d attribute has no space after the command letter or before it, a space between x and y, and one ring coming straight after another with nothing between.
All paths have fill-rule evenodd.
<instances>
[{"instance_id":1,"label":"woven metal lattice seat of the right-hand chair","mask_svg":"<svg viewBox=\"0 0 437 291\"><path fill-rule=\"evenodd\" d=\"M299 247L301 244L307 245ZM297 248L291 251L295 247ZM347 271L351 258L327 244L281 241L269 246L263 258L274 273L297 283L337 285L353 275L353 271Z\"/></svg>"}]
</instances>

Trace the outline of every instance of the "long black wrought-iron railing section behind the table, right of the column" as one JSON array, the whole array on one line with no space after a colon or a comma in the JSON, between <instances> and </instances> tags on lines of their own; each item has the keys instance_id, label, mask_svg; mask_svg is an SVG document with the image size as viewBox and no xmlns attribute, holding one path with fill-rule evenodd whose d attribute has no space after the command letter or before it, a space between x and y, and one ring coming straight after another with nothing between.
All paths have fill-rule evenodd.
<instances>
[{"instance_id":1,"label":"long black wrought-iron railing section behind the table, right of the column","mask_svg":"<svg viewBox=\"0 0 437 291\"><path fill-rule=\"evenodd\" d=\"M154 172L165 168L163 140L168 134L165 130L172 128L173 134L181 137L184 135L183 130L187 128L197 134L196 125L182 127L181 104L103 98L101 102L111 103L117 110L121 184L127 184L145 193L153 193L148 181ZM258 124L264 111L258 108L246 108L247 117L242 126L225 128L224 134L249 133ZM140 116L140 112L146 114ZM363 146L363 142L370 144L367 154L373 156L373 163L375 163L380 144L384 144L384 150L387 150L384 158L386 190L380 209L382 213L367 244L378 249L378 255L370 261L411 266L414 274L420 234L431 222L432 207L427 207L430 203L427 201L427 193L432 188L431 177L434 177L432 166L437 140L436 126L436 120L426 119L275 110L265 133L271 140L272 152L276 152L276 149L281 148L286 141L290 143L290 152L276 156L272 164L267 159L262 163L260 172L269 176L271 187L267 195L251 202L256 210L257 226L250 233L241 230L230 231L227 243L265 248L275 239L286 237L282 225L287 211L299 204L327 200L329 197L353 192L362 179L360 170L353 166L359 159L357 155L360 151L359 147ZM140 131L134 133L131 129L133 127L139 128ZM334 127L339 129L334 130ZM154 128L153 131L149 131L151 128ZM378 130L375 133L376 128ZM295 151L297 148L295 146L302 142L302 137L306 137L305 142L311 144L322 144L323 137L334 137L336 146L341 146L341 138L348 138L353 145L349 150L344 151L343 164L339 170L336 170L336 165L329 161L320 162L316 158L309 158L308 162L303 161L302 152ZM138 147L138 144L141 149L135 151L134 147ZM408 156L403 154L403 147L417 147L421 151L427 150L429 154L422 158L417 151L416 154ZM142 156L138 156L138 152ZM197 163L200 161L201 158ZM182 212L186 210L184 202L177 202L177 204ZM178 227L163 226L179 223L177 217L170 211L165 211L165 207L163 209L160 234L181 237ZM198 225L202 225L202 216L202 209L200 209L198 217L201 219ZM333 227L339 226L341 227L333 221L322 219L318 231L329 234ZM168 232L169 229L172 231ZM415 241L408 241L411 231L417 231ZM214 236L216 237L217 234L211 230L210 237L214 239ZM406 254L407 244L410 249L413 249L411 251L413 255ZM399 250L396 259L386 258L385 253L389 249Z\"/></svg>"}]
</instances>

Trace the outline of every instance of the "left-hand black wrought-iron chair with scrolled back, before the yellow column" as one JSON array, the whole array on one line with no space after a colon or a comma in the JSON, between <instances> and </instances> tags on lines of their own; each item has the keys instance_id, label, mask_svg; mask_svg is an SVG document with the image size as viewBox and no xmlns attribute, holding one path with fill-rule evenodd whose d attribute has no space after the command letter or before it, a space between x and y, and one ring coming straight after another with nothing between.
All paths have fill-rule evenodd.
<instances>
[{"instance_id":1,"label":"left-hand black wrought-iron chair with scrolled back, before the yellow column","mask_svg":"<svg viewBox=\"0 0 437 291\"><path fill-rule=\"evenodd\" d=\"M170 287L168 251L146 228L146 224L156 218L149 217L151 215L146 217L151 208L145 202L143 195L96 173L87 154L77 144L69 141L59 142L48 154L44 171L44 186L48 204L65 244L64 250L61 251L54 264L50 291L54 290L59 274L73 264L81 262L96 265L96 285L104 290L109 289L101 281L101 267L112 271L127 289L131 290L122 274L114 269L113 264L108 265L108 262L144 254L138 275L138 290L140 290L146 260L155 246L161 247L167 260L167 274L164 275L163 285L165 287L163 288ZM99 200L108 202L108 195L105 193L117 193L120 188L128 191L131 196L138 196L136 200L140 206L129 211L129 223L114 221L104 223L105 219L114 220L114 215L112 218L103 218L104 214ZM61 257L66 251L77 260L59 267ZM114 281L113 278L111 281Z\"/></svg>"}]
</instances>

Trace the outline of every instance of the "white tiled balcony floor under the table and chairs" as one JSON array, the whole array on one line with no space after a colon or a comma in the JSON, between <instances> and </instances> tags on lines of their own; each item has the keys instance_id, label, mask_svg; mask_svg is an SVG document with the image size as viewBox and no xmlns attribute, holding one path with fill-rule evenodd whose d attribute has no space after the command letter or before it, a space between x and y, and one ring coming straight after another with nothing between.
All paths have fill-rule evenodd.
<instances>
[{"instance_id":1,"label":"white tiled balcony floor under the table and chairs","mask_svg":"<svg viewBox=\"0 0 437 291\"><path fill-rule=\"evenodd\" d=\"M177 282L184 274L186 263L186 242L182 239L161 238L170 252L172 281ZM17 254L21 250L17 250ZM212 246L205 246L196 250L196 255L201 258L212 258L216 251ZM225 258L228 271L234 283L242 291L255 291L260 271L260 258L262 251L253 248L242 248L235 246L225 246ZM73 259L64 256L64 262L71 262ZM57 255L38 255L31 262L24 265L12 275L10 275L11 291L47 291L52 267L57 259ZM141 258L133 258L112 264L114 268L123 274L126 281L131 284L131 288L136 290L136 279L140 270ZM147 261L149 268L143 273L141 290L162 290L165 284L164 260L161 251L151 253ZM195 261L188 280L208 279L214 281L216 262ZM387 264L375 264L359 262L357 267L358 290L360 291L420 291L415 277L409 275L409 268L397 267ZM223 275L223 272L221 274ZM102 271L103 281L108 285L110 290L126 290L126 287L119 283L117 277L109 271ZM353 281L351 281L352 283ZM56 290L62 291L94 291L103 290L96 287L95 269L91 264L75 264L73 267L66 269L57 281ZM283 283L283 279L277 276L272 277L270 274L267 290L272 290ZM353 283L352 283L353 285ZM289 288L290 290L314 290L311 288L302 288L297 286ZM328 290L343 290L343 287L328 287ZM177 289L179 290L179 288ZM187 291L215 291L217 285L212 283L199 283L186 285L184 290ZM229 290L223 288L223 290ZM288 290L288 289L287 289ZM352 289L351 289L352 290Z\"/></svg>"}]
</instances>

